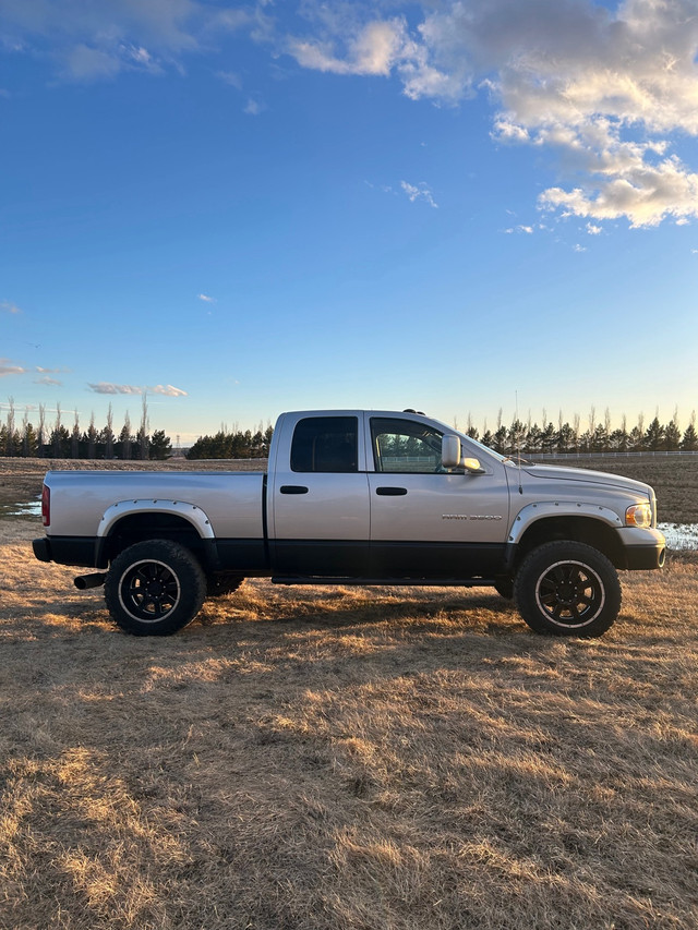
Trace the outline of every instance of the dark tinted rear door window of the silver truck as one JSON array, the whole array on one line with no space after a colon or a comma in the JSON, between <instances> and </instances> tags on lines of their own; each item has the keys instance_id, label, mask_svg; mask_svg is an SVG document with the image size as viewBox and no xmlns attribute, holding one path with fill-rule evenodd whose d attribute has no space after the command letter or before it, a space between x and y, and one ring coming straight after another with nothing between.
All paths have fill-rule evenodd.
<instances>
[{"instance_id":1,"label":"dark tinted rear door window of the silver truck","mask_svg":"<svg viewBox=\"0 0 698 930\"><path fill-rule=\"evenodd\" d=\"M308 416L293 431L291 471L356 472L358 449L356 416Z\"/></svg>"}]
</instances>

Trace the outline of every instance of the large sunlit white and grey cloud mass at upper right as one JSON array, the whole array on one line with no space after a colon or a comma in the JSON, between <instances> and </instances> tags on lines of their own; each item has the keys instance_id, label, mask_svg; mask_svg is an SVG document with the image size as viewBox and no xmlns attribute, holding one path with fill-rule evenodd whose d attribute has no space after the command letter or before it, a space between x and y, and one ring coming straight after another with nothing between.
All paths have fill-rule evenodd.
<instances>
[{"instance_id":1,"label":"large sunlit white and grey cloud mass at upper right","mask_svg":"<svg viewBox=\"0 0 698 930\"><path fill-rule=\"evenodd\" d=\"M394 74L435 102L488 93L497 142L549 149L581 179L542 208L634 227L698 218L698 176L672 152L676 134L698 136L696 0L424 2L412 29L362 3L303 9L316 35L289 49L305 68Z\"/></svg>"}]
</instances>

